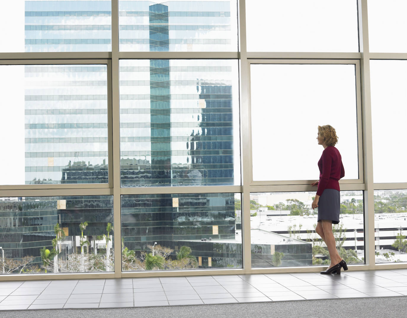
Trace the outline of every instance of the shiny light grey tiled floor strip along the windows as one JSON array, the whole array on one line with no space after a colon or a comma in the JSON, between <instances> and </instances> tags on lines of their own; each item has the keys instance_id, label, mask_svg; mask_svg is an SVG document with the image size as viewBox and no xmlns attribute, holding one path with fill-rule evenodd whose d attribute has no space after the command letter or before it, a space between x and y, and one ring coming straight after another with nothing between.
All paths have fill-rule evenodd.
<instances>
[{"instance_id":1,"label":"shiny light grey tiled floor strip along the windows","mask_svg":"<svg viewBox=\"0 0 407 318\"><path fill-rule=\"evenodd\" d=\"M0 310L146 307L407 295L407 269L0 281Z\"/></svg>"}]
</instances>

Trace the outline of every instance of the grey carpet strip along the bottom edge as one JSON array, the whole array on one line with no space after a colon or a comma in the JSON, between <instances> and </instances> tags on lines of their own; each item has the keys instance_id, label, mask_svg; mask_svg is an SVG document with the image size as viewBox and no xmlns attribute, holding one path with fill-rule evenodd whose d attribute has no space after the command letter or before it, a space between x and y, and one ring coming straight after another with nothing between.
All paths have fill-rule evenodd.
<instances>
[{"instance_id":1,"label":"grey carpet strip along the bottom edge","mask_svg":"<svg viewBox=\"0 0 407 318\"><path fill-rule=\"evenodd\" d=\"M261 318L261 317L405 317L405 297L374 297L279 301L196 306L138 307L112 309L54 309L1 311L1 317L35 318Z\"/></svg>"}]
</instances>

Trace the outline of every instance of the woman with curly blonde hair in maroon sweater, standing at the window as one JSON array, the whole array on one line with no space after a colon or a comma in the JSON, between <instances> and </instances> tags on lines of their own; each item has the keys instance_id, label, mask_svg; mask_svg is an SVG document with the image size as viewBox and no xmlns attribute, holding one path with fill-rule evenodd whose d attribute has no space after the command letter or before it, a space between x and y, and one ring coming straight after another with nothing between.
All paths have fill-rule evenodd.
<instances>
[{"instance_id":1,"label":"woman with curly blonde hair in maroon sweater, standing at the window","mask_svg":"<svg viewBox=\"0 0 407 318\"><path fill-rule=\"evenodd\" d=\"M318 185L315 200L312 208L318 207L318 222L315 231L322 237L330 257L330 265L321 274L331 274L336 272L341 274L341 267L348 269L346 262L339 256L336 249L335 237L333 236L332 224L339 223L339 179L345 175L341 154L335 148L338 142L335 129L330 125L318 126L318 144L324 147L321 159L318 161L319 181L311 183Z\"/></svg>"}]
</instances>

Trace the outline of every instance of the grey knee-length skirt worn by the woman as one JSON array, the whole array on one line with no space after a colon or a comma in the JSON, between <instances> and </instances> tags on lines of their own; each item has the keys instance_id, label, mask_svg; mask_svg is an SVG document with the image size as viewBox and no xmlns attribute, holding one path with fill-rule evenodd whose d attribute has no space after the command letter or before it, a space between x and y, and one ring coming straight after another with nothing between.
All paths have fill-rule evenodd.
<instances>
[{"instance_id":1,"label":"grey knee-length skirt worn by the woman","mask_svg":"<svg viewBox=\"0 0 407 318\"><path fill-rule=\"evenodd\" d=\"M331 220L332 224L339 223L340 192L335 189L325 189L318 201L318 222Z\"/></svg>"}]
</instances>

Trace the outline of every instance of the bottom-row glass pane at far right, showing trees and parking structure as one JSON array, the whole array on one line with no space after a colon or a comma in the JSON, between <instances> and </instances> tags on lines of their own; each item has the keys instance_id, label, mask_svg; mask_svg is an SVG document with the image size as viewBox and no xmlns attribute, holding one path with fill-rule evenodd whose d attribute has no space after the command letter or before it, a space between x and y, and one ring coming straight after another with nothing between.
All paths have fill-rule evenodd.
<instances>
[{"instance_id":1,"label":"bottom-row glass pane at far right, showing trees and parking structure","mask_svg":"<svg viewBox=\"0 0 407 318\"><path fill-rule=\"evenodd\" d=\"M376 263L407 261L407 190L374 191Z\"/></svg>"}]
</instances>

